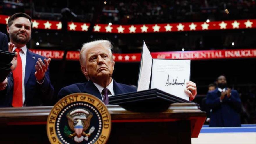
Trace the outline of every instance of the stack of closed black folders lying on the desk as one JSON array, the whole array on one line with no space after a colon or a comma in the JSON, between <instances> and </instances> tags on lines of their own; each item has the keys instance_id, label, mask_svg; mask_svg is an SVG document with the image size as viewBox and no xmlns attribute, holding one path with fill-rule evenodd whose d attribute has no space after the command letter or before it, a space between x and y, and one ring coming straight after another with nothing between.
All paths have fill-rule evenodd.
<instances>
[{"instance_id":1,"label":"stack of closed black folders lying on the desk","mask_svg":"<svg viewBox=\"0 0 256 144\"><path fill-rule=\"evenodd\" d=\"M176 97L159 89L124 93L109 97L109 104L117 104L128 111L156 112L165 111L172 103L194 103ZM196 104L200 108L199 104Z\"/></svg>"}]
</instances>

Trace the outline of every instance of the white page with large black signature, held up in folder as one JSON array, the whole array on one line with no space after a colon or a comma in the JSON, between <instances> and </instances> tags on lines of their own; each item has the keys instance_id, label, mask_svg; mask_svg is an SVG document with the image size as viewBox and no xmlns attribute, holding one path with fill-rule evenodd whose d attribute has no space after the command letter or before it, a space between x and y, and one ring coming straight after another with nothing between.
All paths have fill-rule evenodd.
<instances>
[{"instance_id":1,"label":"white page with large black signature, held up in folder","mask_svg":"<svg viewBox=\"0 0 256 144\"><path fill-rule=\"evenodd\" d=\"M157 88L189 100L184 89L190 81L190 60L153 59L151 89Z\"/></svg>"}]
</instances>

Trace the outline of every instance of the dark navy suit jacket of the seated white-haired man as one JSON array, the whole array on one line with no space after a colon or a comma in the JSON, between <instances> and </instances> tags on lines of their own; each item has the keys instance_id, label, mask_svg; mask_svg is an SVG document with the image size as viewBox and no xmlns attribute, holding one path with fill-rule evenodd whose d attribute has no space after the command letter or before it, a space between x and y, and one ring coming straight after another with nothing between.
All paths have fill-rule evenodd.
<instances>
[{"instance_id":1,"label":"dark navy suit jacket of the seated white-haired man","mask_svg":"<svg viewBox=\"0 0 256 144\"><path fill-rule=\"evenodd\" d=\"M114 93L115 95L122 93L134 92L137 89L133 86L128 86L125 84L117 83L113 80ZM58 99L65 97L66 95L72 93L88 93L94 95L102 100L101 93L97 89L97 87L93 84L92 81L88 81L87 83L76 83L62 88L58 93Z\"/></svg>"}]
</instances>

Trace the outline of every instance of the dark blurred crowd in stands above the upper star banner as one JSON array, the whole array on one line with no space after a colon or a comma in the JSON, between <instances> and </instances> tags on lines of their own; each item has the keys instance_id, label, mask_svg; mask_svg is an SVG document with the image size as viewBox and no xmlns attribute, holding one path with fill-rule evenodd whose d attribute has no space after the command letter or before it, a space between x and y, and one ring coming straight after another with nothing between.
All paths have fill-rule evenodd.
<instances>
[{"instance_id":1,"label":"dark blurred crowd in stands above the upper star banner","mask_svg":"<svg viewBox=\"0 0 256 144\"><path fill-rule=\"evenodd\" d=\"M10 1L17 2L17 1ZM139 24L205 21L207 19L250 19L256 16L255 0L105 0L105 1L29 1L20 0L15 6L31 13L33 19L61 19L61 10L70 8L83 22L90 22L93 15L98 23ZM32 6L32 9L31 9ZM13 6L3 5L2 13L12 13ZM101 13L102 12L102 13Z\"/></svg>"}]
</instances>

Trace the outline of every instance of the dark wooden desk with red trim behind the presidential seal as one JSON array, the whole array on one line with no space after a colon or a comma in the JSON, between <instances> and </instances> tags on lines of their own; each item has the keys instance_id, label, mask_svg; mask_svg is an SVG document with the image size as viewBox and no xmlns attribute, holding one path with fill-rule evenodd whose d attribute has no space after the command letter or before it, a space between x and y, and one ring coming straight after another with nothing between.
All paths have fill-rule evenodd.
<instances>
[{"instance_id":1,"label":"dark wooden desk with red trim behind the presidential seal","mask_svg":"<svg viewBox=\"0 0 256 144\"><path fill-rule=\"evenodd\" d=\"M112 129L108 143L191 143L206 114L193 103L171 104L163 112L135 113L108 105ZM52 106L0 108L0 143L49 143L46 120Z\"/></svg>"}]
</instances>

